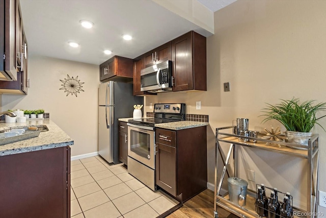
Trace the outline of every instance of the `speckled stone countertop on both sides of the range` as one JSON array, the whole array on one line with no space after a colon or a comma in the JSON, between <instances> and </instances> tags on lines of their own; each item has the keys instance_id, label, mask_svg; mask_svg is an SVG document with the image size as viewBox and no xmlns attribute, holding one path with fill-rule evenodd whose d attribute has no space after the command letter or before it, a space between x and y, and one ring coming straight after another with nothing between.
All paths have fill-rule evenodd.
<instances>
[{"instance_id":1,"label":"speckled stone countertop on both sides of the range","mask_svg":"<svg viewBox=\"0 0 326 218\"><path fill-rule=\"evenodd\" d=\"M119 118L119 121L122 122L128 122L131 118ZM205 122L197 122L197 121L177 121L177 122L171 122L171 123L164 123L164 124L155 124L155 127L157 128L163 128L163 129L169 129L169 130L183 130L183 129L189 129L189 128L195 128L195 127L202 127L202 126L208 126L209 123Z\"/></svg>"}]
</instances>

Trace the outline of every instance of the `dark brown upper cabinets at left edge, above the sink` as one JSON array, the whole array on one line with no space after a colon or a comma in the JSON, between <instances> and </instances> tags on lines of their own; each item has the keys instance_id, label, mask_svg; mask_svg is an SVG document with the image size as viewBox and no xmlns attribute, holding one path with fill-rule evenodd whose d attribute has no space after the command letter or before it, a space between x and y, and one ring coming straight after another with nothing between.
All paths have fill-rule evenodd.
<instances>
[{"instance_id":1,"label":"dark brown upper cabinets at left edge, above the sink","mask_svg":"<svg viewBox=\"0 0 326 218\"><path fill-rule=\"evenodd\" d=\"M5 13L0 15L0 33L4 31L5 35L4 38L0 36L0 56L4 56L5 61L0 62L0 71L2 72L0 93L27 94L30 82L27 67L28 49L19 1L1 1L0 11L3 9ZM4 28L2 23L4 23ZM10 32L15 34L10 34ZM15 79L13 80L13 78Z\"/></svg>"}]
</instances>

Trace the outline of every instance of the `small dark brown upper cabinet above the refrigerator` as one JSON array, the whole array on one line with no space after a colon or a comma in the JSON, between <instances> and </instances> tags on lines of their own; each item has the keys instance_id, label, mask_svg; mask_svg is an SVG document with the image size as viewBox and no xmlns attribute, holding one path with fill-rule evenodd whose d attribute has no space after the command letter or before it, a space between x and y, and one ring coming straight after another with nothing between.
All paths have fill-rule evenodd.
<instances>
[{"instance_id":1,"label":"small dark brown upper cabinet above the refrigerator","mask_svg":"<svg viewBox=\"0 0 326 218\"><path fill-rule=\"evenodd\" d=\"M100 81L132 82L133 60L114 56L100 64Z\"/></svg>"}]
</instances>

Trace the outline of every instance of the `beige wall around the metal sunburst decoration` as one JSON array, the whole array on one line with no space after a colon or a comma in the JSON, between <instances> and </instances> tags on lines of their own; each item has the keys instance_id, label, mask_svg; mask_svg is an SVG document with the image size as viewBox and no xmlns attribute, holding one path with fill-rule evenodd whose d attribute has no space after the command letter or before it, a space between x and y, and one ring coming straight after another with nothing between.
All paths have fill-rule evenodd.
<instances>
[{"instance_id":1,"label":"beige wall around the metal sunburst decoration","mask_svg":"<svg viewBox=\"0 0 326 218\"><path fill-rule=\"evenodd\" d=\"M60 80L67 75L84 82L83 90L66 96ZM2 95L2 109L39 109L73 140L71 156L97 152L98 66L47 57L29 58L28 95Z\"/></svg>"}]
</instances>

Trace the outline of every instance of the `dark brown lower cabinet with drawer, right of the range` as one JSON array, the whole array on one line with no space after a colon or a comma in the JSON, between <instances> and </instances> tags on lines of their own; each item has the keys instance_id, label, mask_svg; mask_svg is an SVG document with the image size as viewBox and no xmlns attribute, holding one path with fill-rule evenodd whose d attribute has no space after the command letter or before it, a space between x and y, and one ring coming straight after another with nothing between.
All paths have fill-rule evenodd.
<instances>
[{"instance_id":1,"label":"dark brown lower cabinet with drawer, right of the range","mask_svg":"<svg viewBox=\"0 0 326 218\"><path fill-rule=\"evenodd\" d=\"M206 126L156 129L156 185L183 202L207 188Z\"/></svg>"}]
</instances>

